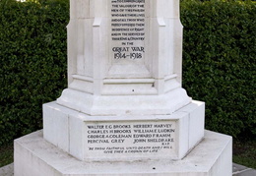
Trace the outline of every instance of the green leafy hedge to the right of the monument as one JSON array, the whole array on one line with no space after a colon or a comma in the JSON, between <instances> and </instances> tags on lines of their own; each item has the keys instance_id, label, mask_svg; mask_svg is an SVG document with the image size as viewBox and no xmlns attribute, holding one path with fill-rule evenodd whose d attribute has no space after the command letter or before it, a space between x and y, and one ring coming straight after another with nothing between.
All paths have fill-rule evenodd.
<instances>
[{"instance_id":1,"label":"green leafy hedge to the right of the monument","mask_svg":"<svg viewBox=\"0 0 256 176\"><path fill-rule=\"evenodd\" d=\"M183 86L206 102L206 128L256 135L256 4L181 3Z\"/></svg>"}]
</instances>

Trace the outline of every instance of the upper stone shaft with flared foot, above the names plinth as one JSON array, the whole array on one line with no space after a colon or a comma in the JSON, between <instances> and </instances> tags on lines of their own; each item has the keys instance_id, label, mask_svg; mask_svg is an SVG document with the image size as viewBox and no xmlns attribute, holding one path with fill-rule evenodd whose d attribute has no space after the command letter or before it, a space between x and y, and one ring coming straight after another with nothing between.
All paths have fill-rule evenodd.
<instances>
[{"instance_id":1,"label":"upper stone shaft with flared foot, above the names plinth","mask_svg":"<svg viewBox=\"0 0 256 176\"><path fill-rule=\"evenodd\" d=\"M73 0L57 103L93 116L171 114L191 102L181 60L178 0Z\"/></svg>"}]
</instances>

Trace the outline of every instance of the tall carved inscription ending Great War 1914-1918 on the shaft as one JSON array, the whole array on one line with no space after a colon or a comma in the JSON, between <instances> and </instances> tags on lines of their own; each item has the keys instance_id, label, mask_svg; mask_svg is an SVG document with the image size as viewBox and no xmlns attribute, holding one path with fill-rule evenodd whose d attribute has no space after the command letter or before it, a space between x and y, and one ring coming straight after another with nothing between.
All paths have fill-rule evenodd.
<instances>
[{"instance_id":1,"label":"tall carved inscription ending Great War 1914-1918 on the shaft","mask_svg":"<svg viewBox=\"0 0 256 176\"><path fill-rule=\"evenodd\" d=\"M111 57L144 58L145 0L111 0Z\"/></svg>"}]
</instances>

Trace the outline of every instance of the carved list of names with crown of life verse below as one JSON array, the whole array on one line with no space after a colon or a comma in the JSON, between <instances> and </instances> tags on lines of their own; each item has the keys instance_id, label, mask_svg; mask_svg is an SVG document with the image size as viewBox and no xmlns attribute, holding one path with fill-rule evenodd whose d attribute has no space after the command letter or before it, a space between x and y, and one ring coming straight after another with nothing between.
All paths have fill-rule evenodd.
<instances>
[{"instance_id":1,"label":"carved list of names with crown of life verse below","mask_svg":"<svg viewBox=\"0 0 256 176\"><path fill-rule=\"evenodd\" d=\"M175 149L175 122L87 124L89 154L169 153Z\"/></svg>"}]
</instances>

